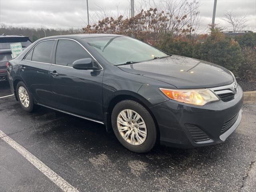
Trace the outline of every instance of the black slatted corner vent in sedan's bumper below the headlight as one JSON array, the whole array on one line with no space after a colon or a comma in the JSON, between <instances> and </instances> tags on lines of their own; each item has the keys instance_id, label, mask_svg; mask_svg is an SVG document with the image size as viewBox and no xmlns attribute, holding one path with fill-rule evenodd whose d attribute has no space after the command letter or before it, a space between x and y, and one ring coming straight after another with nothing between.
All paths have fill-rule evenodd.
<instances>
[{"instance_id":1,"label":"black slatted corner vent in sedan's bumper below the headlight","mask_svg":"<svg viewBox=\"0 0 256 192\"><path fill-rule=\"evenodd\" d=\"M194 142L201 142L210 140L210 137L200 128L192 124L185 124Z\"/></svg>"}]
</instances>

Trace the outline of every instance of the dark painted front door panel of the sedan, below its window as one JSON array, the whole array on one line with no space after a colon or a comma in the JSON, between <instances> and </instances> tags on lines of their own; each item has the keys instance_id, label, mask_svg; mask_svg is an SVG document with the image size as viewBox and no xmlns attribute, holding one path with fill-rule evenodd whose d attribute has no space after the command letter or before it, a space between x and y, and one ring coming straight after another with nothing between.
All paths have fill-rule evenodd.
<instances>
[{"instance_id":1,"label":"dark painted front door panel of the sedan, below its window","mask_svg":"<svg viewBox=\"0 0 256 192\"><path fill-rule=\"evenodd\" d=\"M63 66L50 67L51 107L103 121L102 78L104 71L76 70Z\"/></svg>"}]
</instances>

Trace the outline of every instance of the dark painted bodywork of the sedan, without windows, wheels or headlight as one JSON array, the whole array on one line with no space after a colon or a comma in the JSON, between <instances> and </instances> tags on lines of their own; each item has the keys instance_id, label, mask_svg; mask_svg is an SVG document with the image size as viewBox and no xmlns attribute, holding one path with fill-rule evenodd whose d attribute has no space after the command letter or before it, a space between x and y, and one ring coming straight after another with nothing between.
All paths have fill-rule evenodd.
<instances>
[{"instance_id":1,"label":"dark painted bodywork of the sedan, without windows, wheels or headlight","mask_svg":"<svg viewBox=\"0 0 256 192\"><path fill-rule=\"evenodd\" d=\"M182 56L170 56L148 62L112 66L88 46L86 39L104 34L81 34L43 38L10 61L8 80L16 98L15 85L22 80L32 93L35 102L75 116L104 123L111 129L111 107L116 100L132 99L149 111L160 132L160 141L168 146L188 148L223 142L238 126L241 116L224 134L220 129L234 114L240 114L243 93L229 102L222 100L196 106L170 100L159 88L212 88L232 84L232 74L218 65ZM115 36L115 35L109 35ZM28 51L42 40L68 38L86 48L102 69L77 70L23 60ZM53 53L54 55L54 53ZM22 71L21 66L26 69ZM182 70L182 71L181 71ZM53 77L51 72L58 72ZM26 72L27 74L25 74ZM191 73L193 72L193 73ZM195 143L185 124L194 124L210 136L210 140Z\"/></svg>"}]
</instances>

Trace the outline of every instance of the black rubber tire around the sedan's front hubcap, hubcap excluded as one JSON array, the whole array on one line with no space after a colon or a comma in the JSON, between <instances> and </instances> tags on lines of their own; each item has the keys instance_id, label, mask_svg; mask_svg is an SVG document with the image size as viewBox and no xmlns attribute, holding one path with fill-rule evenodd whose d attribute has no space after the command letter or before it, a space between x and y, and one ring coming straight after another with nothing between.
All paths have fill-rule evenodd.
<instances>
[{"instance_id":1,"label":"black rubber tire around the sedan's front hubcap, hubcap excluded","mask_svg":"<svg viewBox=\"0 0 256 192\"><path fill-rule=\"evenodd\" d=\"M126 142L126 140L124 140L124 138L121 136L120 132L118 131L118 126L117 126L118 114L125 109L130 109L137 112L143 118L146 124L146 129L147 129L146 140L140 145L132 145L129 142ZM123 100L118 104L116 104L116 106L114 106L114 109L112 111L111 122L112 122L112 128L114 130L116 138L124 147L126 147L128 150L132 152L146 153L150 151L156 144L157 130L156 130L156 125L154 123L154 120L150 115L150 113L148 112L148 110L136 101Z\"/></svg>"}]
</instances>

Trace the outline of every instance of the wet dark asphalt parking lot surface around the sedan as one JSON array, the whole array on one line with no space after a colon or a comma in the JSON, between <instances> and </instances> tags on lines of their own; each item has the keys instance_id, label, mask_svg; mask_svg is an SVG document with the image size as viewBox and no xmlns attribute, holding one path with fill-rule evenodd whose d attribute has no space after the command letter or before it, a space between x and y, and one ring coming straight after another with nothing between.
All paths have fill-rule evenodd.
<instances>
[{"instance_id":1,"label":"wet dark asphalt parking lot surface around the sedan","mask_svg":"<svg viewBox=\"0 0 256 192\"><path fill-rule=\"evenodd\" d=\"M10 94L7 82L0 83L0 97ZM0 98L0 130L80 192L248 192L256 191L256 105L243 110L240 126L222 144L157 146L147 154L126 150L100 124L43 107L26 113L14 96ZM1 192L62 191L2 137Z\"/></svg>"}]
</instances>

